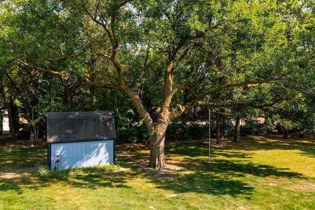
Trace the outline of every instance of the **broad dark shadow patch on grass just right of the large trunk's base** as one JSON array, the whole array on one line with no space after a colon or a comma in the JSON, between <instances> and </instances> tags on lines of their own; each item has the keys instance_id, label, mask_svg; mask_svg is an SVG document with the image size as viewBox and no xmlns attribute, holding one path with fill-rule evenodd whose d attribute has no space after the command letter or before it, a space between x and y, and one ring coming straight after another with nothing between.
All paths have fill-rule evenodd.
<instances>
[{"instance_id":1,"label":"broad dark shadow patch on grass just right of the large trunk's base","mask_svg":"<svg viewBox=\"0 0 315 210\"><path fill-rule=\"evenodd\" d=\"M190 162L190 163L189 163ZM174 190L175 193L195 192L233 197L251 195L255 188L246 183L248 176L277 176L300 178L301 174L286 172L267 165L254 165L229 160L215 160L210 163L188 160L179 165L182 170L174 174L150 178L158 188Z\"/></svg>"}]
</instances>

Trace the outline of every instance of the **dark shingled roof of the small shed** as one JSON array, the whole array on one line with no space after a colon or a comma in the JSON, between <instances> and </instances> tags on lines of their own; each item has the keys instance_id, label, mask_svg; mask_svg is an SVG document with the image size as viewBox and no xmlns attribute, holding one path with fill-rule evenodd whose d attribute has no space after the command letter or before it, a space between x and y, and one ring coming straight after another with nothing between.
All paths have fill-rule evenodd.
<instances>
[{"instance_id":1,"label":"dark shingled roof of the small shed","mask_svg":"<svg viewBox=\"0 0 315 210\"><path fill-rule=\"evenodd\" d=\"M47 143L116 139L113 112L45 112Z\"/></svg>"}]
</instances>

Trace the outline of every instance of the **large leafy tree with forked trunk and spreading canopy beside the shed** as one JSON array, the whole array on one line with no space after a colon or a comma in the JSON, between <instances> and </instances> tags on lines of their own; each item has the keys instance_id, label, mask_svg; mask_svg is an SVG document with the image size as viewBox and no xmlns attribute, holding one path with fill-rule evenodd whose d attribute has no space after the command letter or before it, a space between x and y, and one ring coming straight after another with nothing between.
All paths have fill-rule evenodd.
<instances>
[{"instance_id":1,"label":"large leafy tree with forked trunk and spreading canopy beside the shed","mask_svg":"<svg viewBox=\"0 0 315 210\"><path fill-rule=\"evenodd\" d=\"M165 132L174 119L217 103L222 90L282 80L294 66L283 59L286 2L5 2L1 62L123 92L150 135L153 168L165 167Z\"/></svg>"}]
</instances>

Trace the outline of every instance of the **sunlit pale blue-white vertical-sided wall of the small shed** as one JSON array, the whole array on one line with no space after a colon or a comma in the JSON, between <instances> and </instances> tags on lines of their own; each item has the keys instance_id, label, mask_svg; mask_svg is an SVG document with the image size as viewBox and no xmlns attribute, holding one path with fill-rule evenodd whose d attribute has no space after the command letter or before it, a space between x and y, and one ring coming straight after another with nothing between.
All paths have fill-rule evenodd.
<instances>
[{"instance_id":1,"label":"sunlit pale blue-white vertical-sided wall of the small shed","mask_svg":"<svg viewBox=\"0 0 315 210\"><path fill-rule=\"evenodd\" d=\"M54 155L62 152L59 169L103 166L114 163L114 140L51 143L51 169L57 167Z\"/></svg>"}]
</instances>

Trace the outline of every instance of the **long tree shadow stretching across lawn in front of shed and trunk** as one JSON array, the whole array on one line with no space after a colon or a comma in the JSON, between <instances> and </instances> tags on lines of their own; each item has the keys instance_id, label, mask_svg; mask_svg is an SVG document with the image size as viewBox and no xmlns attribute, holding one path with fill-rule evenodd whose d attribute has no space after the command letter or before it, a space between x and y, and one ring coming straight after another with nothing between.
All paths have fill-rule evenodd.
<instances>
[{"instance_id":1,"label":"long tree shadow stretching across lawn in front of shed and trunk","mask_svg":"<svg viewBox=\"0 0 315 210\"><path fill-rule=\"evenodd\" d=\"M0 184L0 191L15 191L23 194L25 188L40 190L42 188L67 186L74 188L131 188L133 177L143 177L145 182L153 183L157 188L174 193L199 193L212 195L230 195L233 197L251 195L255 188L246 183L244 177L253 176L282 176L297 177L298 173L285 172L266 165L253 165L239 161L216 160L210 163L204 160L187 161L178 164L179 170L159 174L152 169L146 170L134 165L122 172L97 172L85 175L57 175L36 178L33 180L12 178ZM135 180L136 181L136 180ZM144 182L144 183L145 183ZM133 186L134 187L134 186Z\"/></svg>"}]
</instances>

